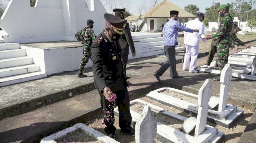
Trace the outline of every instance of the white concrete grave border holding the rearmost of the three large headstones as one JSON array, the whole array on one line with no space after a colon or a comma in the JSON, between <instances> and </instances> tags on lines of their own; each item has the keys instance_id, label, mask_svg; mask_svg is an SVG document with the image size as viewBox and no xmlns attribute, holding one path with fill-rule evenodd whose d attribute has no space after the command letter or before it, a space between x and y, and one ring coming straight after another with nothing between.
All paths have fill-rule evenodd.
<instances>
[{"instance_id":1,"label":"white concrete grave border holding the rearmost of the three large headstones","mask_svg":"<svg viewBox=\"0 0 256 143\"><path fill-rule=\"evenodd\" d=\"M198 105L177 99L175 97L160 93L164 90L169 90L174 93L183 94L190 97L198 98L198 95L178 90L175 88L163 87L157 90L151 91L146 95L151 100L159 102L161 104L176 108L183 112L189 113L193 116L197 116ZM239 118L243 116L243 111L238 110L236 106L227 104L227 108L221 112L208 109L207 121L214 124L230 128Z\"/></svg>"}]
</instances>

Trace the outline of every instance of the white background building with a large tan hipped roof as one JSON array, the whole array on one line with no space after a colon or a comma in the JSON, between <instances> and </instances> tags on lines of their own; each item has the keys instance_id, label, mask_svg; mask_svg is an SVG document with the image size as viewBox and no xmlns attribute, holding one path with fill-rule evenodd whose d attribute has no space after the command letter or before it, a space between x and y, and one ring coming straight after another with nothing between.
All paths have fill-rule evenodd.
<instances>
[{"instance_id":1,"label":"white background building with a large tan hipped roof","mask_svg":"<svg viewBox=\"0 0 256 143\"><path fill-rule=\"evenodd\" d=\"M183 10L179 6L174 5L168 0L162 1L159 5L152 8L146 14L142 15L139 19L142 23L139 26L141 32L162 30L162 24L166 23L167 19L170 19L170 11L179 11L179 19L182 20L184 25L185 19L195 19L195 15Z\"/></svg>"}]
</instances>

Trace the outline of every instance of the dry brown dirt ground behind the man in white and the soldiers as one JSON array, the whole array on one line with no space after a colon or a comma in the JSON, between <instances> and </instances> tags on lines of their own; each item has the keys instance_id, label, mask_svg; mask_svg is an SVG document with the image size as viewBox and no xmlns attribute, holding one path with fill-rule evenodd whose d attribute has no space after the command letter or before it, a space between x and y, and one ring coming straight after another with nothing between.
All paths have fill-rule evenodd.
<instances>
[{"instance_id":1,"label":"dry brown dirt ground behind the man in white and the soldiers","mask_svg":"<svg viewBox=\"0 0 256 143\"><path fill-rule=\"evenodd\" d=\"M213 34L213 32L210 32L210 34ZM237 34L237 37L243 41L251 41L256 39L256 34L254 33L245 33L245 35L241 35L241 34ZM212 40L208 40L207 42L203 42L202 40L200 40L199 43L199 50L200 51L209 51L211 48L211 42ZM181 46L184 46L184 38L183 37L178 37L178 43L181 43Z\"/></svg>"}]
</instances>

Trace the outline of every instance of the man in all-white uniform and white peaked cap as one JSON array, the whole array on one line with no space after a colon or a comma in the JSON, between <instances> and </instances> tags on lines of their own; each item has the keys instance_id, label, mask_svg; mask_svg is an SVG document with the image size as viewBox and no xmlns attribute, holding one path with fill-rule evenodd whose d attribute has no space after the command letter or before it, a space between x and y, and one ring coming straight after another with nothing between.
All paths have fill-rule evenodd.
<instances>
[{"instance_id":1,"label":"man in all-white uniform and white peaked cap","mask_svg":"<svg viewBox=\"0 0 256 143\"><path fill-rule=\"evenodd\" d=\"M197 16L195 20L190 20L187 22L186 27L191 29L198 29L198 32L194 33L188 33L184 31L184 44L186 46L186 54L184 57L184 64L183 64L183 70L186 70L188 66L189 59L191 57L189 72L197 73L195 70L196 62L197 62L197 55L199 50L199 38L200 35L204 34L204 24L202 21L204 20L204 17L206 16L205 13L201 11L197 11ZM206 42L207 40L201 38L203 42Z\"/></svg>"}]
</instances>

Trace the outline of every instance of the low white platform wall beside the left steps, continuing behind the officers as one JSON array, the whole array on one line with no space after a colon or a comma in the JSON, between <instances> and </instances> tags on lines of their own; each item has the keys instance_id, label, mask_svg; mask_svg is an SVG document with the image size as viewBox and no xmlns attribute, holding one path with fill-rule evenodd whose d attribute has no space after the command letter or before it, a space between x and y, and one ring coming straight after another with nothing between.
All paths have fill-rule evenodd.
<instances>
[{"instance_id":1,"label":"low white platform wall beside the left steps, continuing behind the officers","mask_svg":"<svg viewBox=\"0 0 256 143\"><path fill-rule=\"evenodd\" d=\"M134 46L136 48L136 56L132 57L131 51L128 55L128 59L140 58L140 41L134 40ZM33 57L33 63L40 66L40 70L47 75L54 73L61 73L65 71L78 70L79 64L83 56L83 47L70 47L70 48L52 48L41 49L35 47L27 47L20 45L21 49L25 49L27 56ZM93 62L89 59L89 62L85 65L85 68L92 67Z\"/></svg>"}]
</instances>

